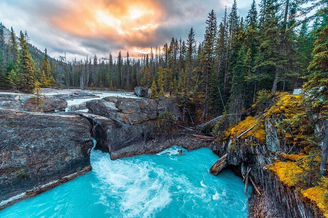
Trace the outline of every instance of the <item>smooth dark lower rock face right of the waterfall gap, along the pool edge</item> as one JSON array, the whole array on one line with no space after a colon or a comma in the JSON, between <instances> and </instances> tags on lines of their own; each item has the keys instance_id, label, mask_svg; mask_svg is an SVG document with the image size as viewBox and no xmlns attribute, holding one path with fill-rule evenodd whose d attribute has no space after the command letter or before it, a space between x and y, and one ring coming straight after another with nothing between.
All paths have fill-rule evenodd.
<instances>
[{"instance_id":1,"label":"smooth dark lower rock face right of the waterfall gap, along the pool edge","mask_svg":"<svg viewBox=\"0 0 328 218\"><path fill-rule=\"evenodd\" d=\"M181 146L188 150L206 147L204 142L192 141L193 136L183 129L158 135L154 120L130 125L89 113L81 115L93 125L91 132L97 140L96 149L110 153L112 160L144 153L154 154L171 146Z\"/></svg>"}]
</instances>

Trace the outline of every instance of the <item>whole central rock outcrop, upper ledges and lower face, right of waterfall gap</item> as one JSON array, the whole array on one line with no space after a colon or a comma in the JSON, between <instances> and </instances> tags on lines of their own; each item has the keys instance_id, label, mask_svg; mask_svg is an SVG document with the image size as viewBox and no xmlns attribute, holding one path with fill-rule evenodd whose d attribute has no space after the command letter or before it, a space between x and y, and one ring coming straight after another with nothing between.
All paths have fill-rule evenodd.
<instances>
[{"instance_id":1,"label":"whole central rock outcrop, upper ledges and lower face, right of waterfall gap","mask_svg":"<svg viewBox=\"0 0 328 218\"><path fill-rule=\"evenodd\" d=\"M143 153L158 153L170 146L200 148L203 142L192 141L190 131L178 128L163 131L159 121L170 114L178 122L182 118L177 97L160 100L133 98L103 98L87 102L90 113L82 113L92 123L96 149L109 152L111 159Z\"/></svg>"}]
</instances>

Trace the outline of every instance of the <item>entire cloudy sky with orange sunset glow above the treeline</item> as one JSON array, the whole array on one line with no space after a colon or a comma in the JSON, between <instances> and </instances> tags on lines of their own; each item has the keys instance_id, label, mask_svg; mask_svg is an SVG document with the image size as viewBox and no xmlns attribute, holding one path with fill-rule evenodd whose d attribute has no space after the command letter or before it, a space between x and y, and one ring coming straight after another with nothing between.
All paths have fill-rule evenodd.
<instances>
[{"instance_id":1,"label":"entire cloudy sky with orange sunset glow above the treeline","mask_svg":"<svg viewBox=\"0 0 328 218\"><path fill-rule=\"evenodd\" d=\"M251 3L237 1L241 16ZM52 57L111 52L116 58L119 50L138 57L172 37L186 40L191 26L202 41L208 13L214 9L221 22L225 5L229 11L232 0L1 0L0 22L17 35L27 30L31 43Z\"/></svg>"}]
</instances>

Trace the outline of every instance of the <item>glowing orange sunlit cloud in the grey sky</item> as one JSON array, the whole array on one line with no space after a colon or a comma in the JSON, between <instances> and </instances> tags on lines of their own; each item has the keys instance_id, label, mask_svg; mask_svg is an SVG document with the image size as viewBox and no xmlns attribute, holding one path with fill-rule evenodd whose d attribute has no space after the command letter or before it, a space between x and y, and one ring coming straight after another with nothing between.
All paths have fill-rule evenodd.
<instances>
[{"instance_id":1,"label":"glowing orange sunlit cloud in the grey sky","mask_svg":"<svg viewBox=\"0 0 328 218\"><path fill-rule=\"evenodd\" d=\"M147 43L165 12L154 0L83 0L66 2L66 10L50 22L81 37L106 38L112 42Z\"/></svg>"}]
</instances>

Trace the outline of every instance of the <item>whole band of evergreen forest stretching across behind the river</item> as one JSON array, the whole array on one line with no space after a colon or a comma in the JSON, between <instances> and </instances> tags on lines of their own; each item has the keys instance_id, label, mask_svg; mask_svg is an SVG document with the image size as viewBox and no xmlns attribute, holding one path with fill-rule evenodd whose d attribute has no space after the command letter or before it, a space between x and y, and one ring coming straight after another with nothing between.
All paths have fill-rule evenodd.
<instances>
[{"instance_id":1,"label":"whole band of evergreen forest stretching across behind the river","mask_svg":"<svg viewBox=\"0 0 328 218\"><path fill-rule=\"evenodd\" d=\"M304 8L304 3L313 6ZM126 51L117 59L109 54L54 60L36 48L29 55L27 33L21 32L17 42L11 30L6 40L1 25L0 85L24 91L32 90L35 80L43 87L111 90L153 85L161 93L181 94L181 104L199 122L224 112L242 114L259 90L292 91L306 81L314 42L328 23L325 9L306 18L318 7L327 7L327 2L262 0L257 6L253 1L243 18L234 1L223 18L213 10L208 14L202 42L196 42L191 27L186 40L172 38L140 59Z\"/></svg>"}]
</instances>

